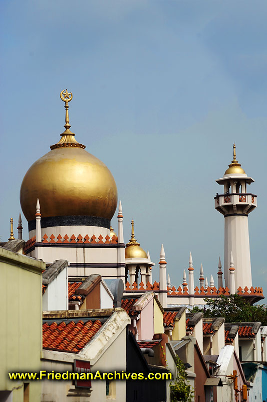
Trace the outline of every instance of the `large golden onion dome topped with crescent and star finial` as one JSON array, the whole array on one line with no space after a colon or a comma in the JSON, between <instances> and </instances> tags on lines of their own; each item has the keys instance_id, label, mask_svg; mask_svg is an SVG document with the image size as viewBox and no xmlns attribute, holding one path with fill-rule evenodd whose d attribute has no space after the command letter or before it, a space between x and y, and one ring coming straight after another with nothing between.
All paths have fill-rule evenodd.
<instances>
[{"instance_id":1,"label":"large golden onion dome topped with crescent and star finial","mask_svg":"<svg viewBox=\"0 0 267 402\"><path fill-rule=\"evenodd\" d=\"M64 96L63 96L64 95ZM61 92L66 124L61 140L27 171L21 185L21 206L28 221L35 219L39 198L42 218L92 216L111 219L117 208L117 186L107 166L85 151L70 131L68 103Z\"/></svg>"}]
</instances>

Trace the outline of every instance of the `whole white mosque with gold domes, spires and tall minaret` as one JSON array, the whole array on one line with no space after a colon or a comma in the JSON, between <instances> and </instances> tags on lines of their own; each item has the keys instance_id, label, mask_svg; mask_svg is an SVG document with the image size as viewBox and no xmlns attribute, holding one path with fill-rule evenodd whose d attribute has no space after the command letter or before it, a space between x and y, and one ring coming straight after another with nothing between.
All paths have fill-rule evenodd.
<instances>
[{"instance_id":1,"label":"whole white mosque with gold domes, spires and tall minaret","mask_svg":"<svg viewBox=\"0 0 267 402\"><path fill-rule=\"evenodd\" d=\"M42 259L47 265L67 260L71 280L91 274L100 274L104 280L121 278L125 295L153 290L163 308L203 305L204 297L220 294L238 293L250 303L263 298L262 288L252 286L249 251L248 214L256 208L257 196L247 192L247 185L254 180L236 160L235 145L232 162L216 180L223 191L214 197L215 209L224 216L224 268L222 271L219 260L216 284L213 275L208 283L202 267L199 280L195 279L190 254L188 283L184 271L182 285L172 285L163 246L159 282L153 283L155 264L135 239L133 221L131 239L125 244L121 202L117 234L110 226L118 205L116 182L108 167L87 152L70 131L72 93L66 89L60 97L65 102L65 131L50 146L50 152L29 168L21 185L21 207L29 226L26 255ZM19 218L19 239L22 229Z\"/></svg>"}]
</instances>

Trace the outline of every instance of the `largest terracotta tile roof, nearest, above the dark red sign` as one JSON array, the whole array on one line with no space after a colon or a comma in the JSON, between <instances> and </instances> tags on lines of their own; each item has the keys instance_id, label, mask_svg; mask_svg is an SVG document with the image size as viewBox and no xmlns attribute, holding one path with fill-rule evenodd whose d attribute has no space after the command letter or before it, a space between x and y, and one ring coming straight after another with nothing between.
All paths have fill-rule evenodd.
<instances>
[{"instance_id":1,"label":"largest terracotta tile roof, nearest, above the dark red sign","mask_svg":"<svg viewBox=\"0 0 267 402\"><path fill-rule=\"evenodd\" d=\"M43 323L43 348L79 353L100 330L99 320Z\"/></svg>"}]
</instances>

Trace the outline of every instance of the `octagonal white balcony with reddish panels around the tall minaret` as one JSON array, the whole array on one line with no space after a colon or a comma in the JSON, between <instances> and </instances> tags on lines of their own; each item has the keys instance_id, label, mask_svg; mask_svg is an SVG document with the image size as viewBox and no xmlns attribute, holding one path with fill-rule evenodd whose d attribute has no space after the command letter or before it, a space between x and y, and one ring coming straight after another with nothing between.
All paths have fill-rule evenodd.
<instances>
[{"instance_id":1,"label":"octagonal white balcony with reddish panels around the tall minaret","mask_svg":"<svg viewBox=\"0 0 267 402\"><path fill-rule=\"evenodd\" d=\"M225 193L214 197L215 209L221 214L249 214L257 206L257 196L251 193Z\"/></svg>"}]
</instances>

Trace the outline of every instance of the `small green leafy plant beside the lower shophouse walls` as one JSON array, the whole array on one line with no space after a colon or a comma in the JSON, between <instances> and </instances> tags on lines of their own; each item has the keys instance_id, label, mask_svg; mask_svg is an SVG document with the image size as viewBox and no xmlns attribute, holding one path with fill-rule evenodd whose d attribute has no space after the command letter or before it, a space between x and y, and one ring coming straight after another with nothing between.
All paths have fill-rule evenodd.
<instances>
[{"instance_id":1,"label":"small green leafy plant beside the lower shophouse walls","mask_svg":"<svg viewBox=\"0 0 267 402\"><path fill-rule=\"evenodd\" d=\"M177 378L170 383L171 402L192 402L193 390L186 379L186 372L182 360L176 356Z\"/></svg>"}]
</instances>

